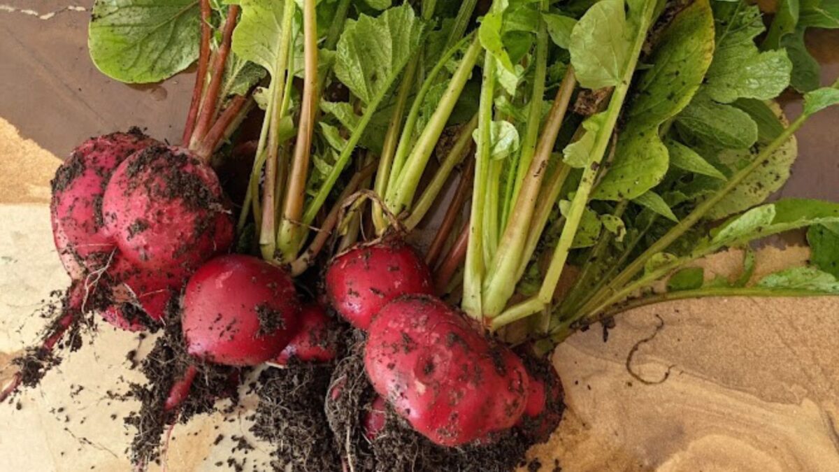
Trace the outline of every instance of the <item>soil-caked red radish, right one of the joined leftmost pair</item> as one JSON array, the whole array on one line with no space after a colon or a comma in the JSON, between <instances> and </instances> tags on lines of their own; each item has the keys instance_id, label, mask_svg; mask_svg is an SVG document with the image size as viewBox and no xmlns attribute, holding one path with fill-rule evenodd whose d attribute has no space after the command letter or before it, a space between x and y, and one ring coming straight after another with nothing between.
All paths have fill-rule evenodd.
<instances>
[{"instance_id":1,"label":"soil-caked red radish, right one of the joined leftmost pair","mask_svg":"<svg viewBox=\"0 0 839 472\"><path fill-rule=\"evenodd\" d=\"M232 244L218 177L186 149L155 145L123 160L105 189L102 215L127 260L169 278L185 278Z\"/></svg>"}]
</instances>

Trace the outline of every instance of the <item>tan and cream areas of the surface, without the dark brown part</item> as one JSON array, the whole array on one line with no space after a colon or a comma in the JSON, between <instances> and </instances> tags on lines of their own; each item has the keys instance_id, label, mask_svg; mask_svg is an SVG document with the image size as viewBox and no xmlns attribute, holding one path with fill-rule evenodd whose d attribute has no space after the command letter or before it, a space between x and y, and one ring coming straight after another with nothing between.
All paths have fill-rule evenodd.
<instances>
[{"instance_id":1,"label":"tan and cream areas of the surface, without the dark brown part","mask_svg":"<svg viewBox=\"0 0 839 472\"><path fill-rule=\"evenodd\" d=\"M0 120L3 380L11 375L8 359L44 325L33 317L39 301L67 284L46 205L58 162ZM704 264L709 276L736 274L741 257L722 254ZM801 248L765 249L758 270L806 257ZM0 470L130 469L125 450L133 431L122 417L136 405L110 400L108 391L124 393L128 381L141 380L126 354L142 354L152 340L100 328L95 344L67 356L13 404L0 405ZM556 350L568 410L550 442L531 451L531 464L547 471L839 470L836 333L836 298L716 298L623 313L607 343L591 329ZM641 380L627 365L636 345L629 369ZM254 403L246 397L227 418L177 425L168 469L227 467L231 437L248 437ZM249 442L256 450L235 460L247 461L245 469L268 469L269 445Z\"/></svg>"}]
</instances>

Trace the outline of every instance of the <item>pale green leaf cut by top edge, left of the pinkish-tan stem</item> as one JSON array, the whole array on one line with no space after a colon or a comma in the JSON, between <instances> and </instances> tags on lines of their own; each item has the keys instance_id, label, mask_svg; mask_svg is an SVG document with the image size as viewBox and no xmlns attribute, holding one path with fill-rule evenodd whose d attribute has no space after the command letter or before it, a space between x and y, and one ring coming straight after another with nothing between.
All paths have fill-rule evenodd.
<instances>
[{"instance_id":1,"label":"pale green leaf cut by top edge, left of the pinkish-tan stem","mask_svg":"<svg viewBox=\"0 0 839 472\"><path fill-rule=\"evenodd\" d=\"M271 76L279 61L284 1L241 0L242 18L233 30L231 49L244 60L263 66Z\"/></svg>"}]
</instances>

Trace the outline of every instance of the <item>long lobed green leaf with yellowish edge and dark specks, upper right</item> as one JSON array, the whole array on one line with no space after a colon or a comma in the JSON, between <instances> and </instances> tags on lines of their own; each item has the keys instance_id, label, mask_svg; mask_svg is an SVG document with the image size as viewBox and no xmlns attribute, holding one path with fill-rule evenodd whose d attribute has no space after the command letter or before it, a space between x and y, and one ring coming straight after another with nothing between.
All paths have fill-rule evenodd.
<instances>
[{"instance_id":1,"label":"long lobed green leaf with yellowish edge and dark specks, upper right","mask_svg":"<svg viewBox=\"0 0 839 472\"><path fill-rule=\"evenodd\" d=\"M628 108L629 123L618 137L612 166L593 198L636 198L658 185L667 173L669 156L659 125L685 108L711 64L714 23L707 0L681 11L659 38L649 60L653 66L638 80Z\"/></svg>"}]
</instances>

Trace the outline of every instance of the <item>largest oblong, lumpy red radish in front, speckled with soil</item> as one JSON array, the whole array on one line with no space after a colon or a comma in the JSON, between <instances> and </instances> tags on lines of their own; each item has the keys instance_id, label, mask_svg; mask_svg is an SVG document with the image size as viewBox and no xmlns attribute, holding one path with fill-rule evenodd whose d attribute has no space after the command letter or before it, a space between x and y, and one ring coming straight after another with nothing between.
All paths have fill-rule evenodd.
<instances>
[{"instance_id":1,"label":"largest oblong, lumpy red radish in front, speckled with soil","mask_svg":"<svg viewBox=\"0 0 839 472\"><path fill-rule=\"evenodd\" d=\"M513 427L527 402L521 360L433 296L399 297L373 318L364 366L378 394L443 446Z\"/></svg>"}]
</instances>

